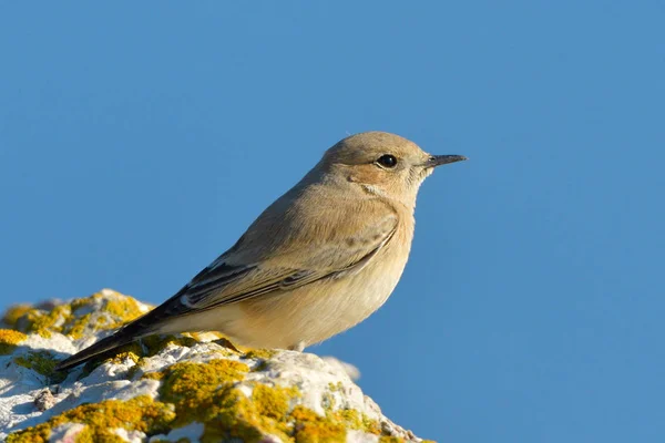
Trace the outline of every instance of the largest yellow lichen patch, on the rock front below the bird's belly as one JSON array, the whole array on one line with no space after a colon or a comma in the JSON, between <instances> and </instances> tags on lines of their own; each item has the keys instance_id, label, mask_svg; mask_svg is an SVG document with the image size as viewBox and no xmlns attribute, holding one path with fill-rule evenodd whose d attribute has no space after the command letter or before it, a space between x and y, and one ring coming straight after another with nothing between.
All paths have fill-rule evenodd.
<instances>
[{"instance_id":1,"label":"largest yellow lichen patch, on the rock front below the bird's belly","mask_svg":"<svg viewBox=\"0 0 665 443\"><path fill-rule=\"evenodd\" d=\"M233 360L177 363L165 371L160 399L175 404L174 425L203 423L203 442L257 442L270 434L284 441L332 443L345 441L348 429L380 433L376 421L355 410L329 410L325 416L303 405L291 410L291 403L300 395L295 387L255 383L248 399L234 387L246 371L246 365Z\"/></svg>"}]
</instances>

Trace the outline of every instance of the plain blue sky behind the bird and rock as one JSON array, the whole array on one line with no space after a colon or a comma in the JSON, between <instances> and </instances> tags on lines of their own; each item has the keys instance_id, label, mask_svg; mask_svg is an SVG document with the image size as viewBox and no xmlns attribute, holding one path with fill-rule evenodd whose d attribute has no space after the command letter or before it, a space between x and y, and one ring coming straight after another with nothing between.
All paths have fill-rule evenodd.
<instances>
[{"instance_id":1,"label":"plain blue sky behind the bird and rock","mask_svg":"<svg viewBox=\"0 0 665 443\"><path fill-rule=\"evenodd\" d=\"M665 435L659 1L0 4L0 308L170 297L347 133L424 183L397 290L310 349L442 442Z\"/></svg>"}]
</instances>

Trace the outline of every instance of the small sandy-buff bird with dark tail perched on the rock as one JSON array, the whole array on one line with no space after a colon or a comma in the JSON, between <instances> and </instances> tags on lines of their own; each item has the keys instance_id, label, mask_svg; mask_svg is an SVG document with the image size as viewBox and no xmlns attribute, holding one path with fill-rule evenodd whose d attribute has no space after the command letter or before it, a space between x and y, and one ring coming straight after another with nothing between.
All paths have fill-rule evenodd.
<instances>
[{"instance_id":1,"label":"small sandy-buff bird with dark tail perched on the rock","mask_svg":"<svg viewBox=\"0 0 665 443\"><path fill-rule=\"evenodd\" d=\"M303 351L358 324L401 277L423 179L463 159L385 132L341 140L177 293L57 369L156 333Z\"/></svg>"}]
</instances>

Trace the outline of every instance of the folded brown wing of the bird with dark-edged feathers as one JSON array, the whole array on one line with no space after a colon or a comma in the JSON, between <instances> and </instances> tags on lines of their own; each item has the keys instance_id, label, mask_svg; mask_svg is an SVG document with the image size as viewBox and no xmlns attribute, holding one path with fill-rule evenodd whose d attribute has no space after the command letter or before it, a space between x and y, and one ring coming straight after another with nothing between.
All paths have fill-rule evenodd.
<instances>
[{"instance_id":1,"label":"folded brown wing of the bird with dark-edged feathers","mask_svg":"<svg viewBox=\"0 0 665 443\"><path fill-rule=\"evenodd\" d=\"M397 224L397 216L389 214L356 231L344 228L314 241L295 239L291 247L255 262L235 262L237 254L227 253L166 301L165 313L192 313L358 272L390 241Z\"/></svg>"}]
</instances>

